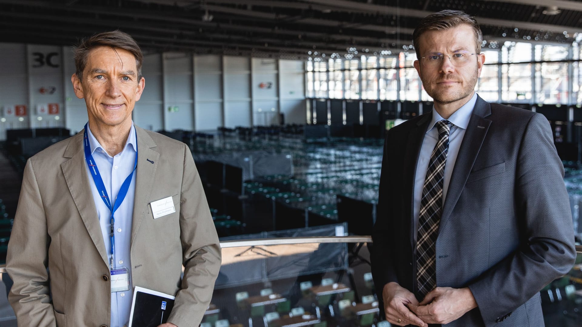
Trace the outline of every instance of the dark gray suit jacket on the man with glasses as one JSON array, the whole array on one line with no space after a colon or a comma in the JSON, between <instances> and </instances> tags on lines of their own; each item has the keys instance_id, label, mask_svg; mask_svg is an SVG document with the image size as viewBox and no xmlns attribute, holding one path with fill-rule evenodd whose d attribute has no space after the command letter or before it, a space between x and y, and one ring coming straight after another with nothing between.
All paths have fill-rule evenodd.
<instances>
[{"instance_id":1,"label":"dark gray suit jacket on the man with glasses","mask_svg":"<svg viewBox=\"0 0 582 327\"><path fill-rule=\"evenodd\" d=\"M432 113L389 130L374 226L378 294L417 294L413 186ZM538 292L576 257L563 165L544 116L477 99L443 203L437 286L469 287L478 308L446 326L543 326ZM380 296L379 296L380 297Z\"/></svg>"}]
</instances>

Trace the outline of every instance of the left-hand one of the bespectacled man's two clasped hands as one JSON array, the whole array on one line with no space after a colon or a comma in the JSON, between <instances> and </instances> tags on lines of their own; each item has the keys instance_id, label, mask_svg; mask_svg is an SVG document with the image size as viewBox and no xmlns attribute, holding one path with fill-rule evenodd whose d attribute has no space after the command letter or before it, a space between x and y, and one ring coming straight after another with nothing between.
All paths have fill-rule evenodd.
<instances>
[{"instance_id":1,"label":"left-hand one of the bespectacled man's two clasped hands","mask_svg":"<svg viewBox=\"0 0 582 327\"><path fill-rule=\"evenodd\" d=\"M414 294L398 283L388 283L384 285L382 290L382 298L384 298L384 312L386 313L386 320L392 325L406 326L409 324L420 327L428 327L428 325L420 318L416 317L406 307L406 305L414 305L418 307L418 301Z\"/></svg>"}]
</instances>

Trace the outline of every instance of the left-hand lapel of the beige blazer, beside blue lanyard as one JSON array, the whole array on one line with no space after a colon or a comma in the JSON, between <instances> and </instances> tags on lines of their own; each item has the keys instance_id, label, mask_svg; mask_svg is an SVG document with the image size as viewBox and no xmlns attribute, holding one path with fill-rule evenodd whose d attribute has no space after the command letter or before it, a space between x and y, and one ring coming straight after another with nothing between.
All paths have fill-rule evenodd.
<instances>
[{"instance_id":1,"label":"left-hand lapel of the beige blazer, beside blue lanyard","mask_svg":"<svg viewBox=\"0 0 582 327\"><path fill-rule=\"evenodd\" d=\"M97 216L97 209L93 201L93 193L91 191L91 183L87 176L87 169L85 165L85 154L83 152L83 131L73 136L64 154L65 158L71 158L61 164L65 181L69 187L74 204L79 210L79 215L83 219L83 223L87 228L87 232L91 240L97 247L97 251L101 254L103 263L108 265L107 253L105 253L105 242L101 234L101 226L99 225L99 218Z\"/></svg>"}]
</instances>

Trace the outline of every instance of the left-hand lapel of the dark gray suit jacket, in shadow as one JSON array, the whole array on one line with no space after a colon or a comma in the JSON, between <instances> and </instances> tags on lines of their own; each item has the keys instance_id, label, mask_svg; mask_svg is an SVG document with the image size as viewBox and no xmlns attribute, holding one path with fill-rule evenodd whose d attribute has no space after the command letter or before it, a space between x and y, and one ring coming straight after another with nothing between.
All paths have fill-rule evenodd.
<instances>
[{"instance_id":1,"label":"left-hand lapel of the dark gray suit jacket, in shadow","mask_svg":"<svg viewBox=\"0 0 582 327\"><path fill-rule=\"evenodd\" d=\"M410 217L410 246L414 249L416 247L416 225L418 220L414 217L414 180L416 176L416 166L418 163L418 155L420 155L420 148L423 145L424 134L427 131L428 123L431 122L432 112L424 115L418 120L415 126L409 131L409 137L406 144L406 153L404 154L404 194L410 196L409 212L407 216Z\"/></svg>"}]
</instances>

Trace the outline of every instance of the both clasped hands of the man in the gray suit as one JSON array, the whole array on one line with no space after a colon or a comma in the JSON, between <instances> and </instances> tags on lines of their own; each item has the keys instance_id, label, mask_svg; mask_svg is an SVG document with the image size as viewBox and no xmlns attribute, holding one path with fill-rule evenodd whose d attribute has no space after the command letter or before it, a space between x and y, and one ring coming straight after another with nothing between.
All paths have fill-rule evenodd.
<instances>
[{"instance_id":1,"label":"both clasped hands of the man in the gray suit","mask_svg":"<svg viewBox=\"0 0 582 327\"><path fill-rule=\"evenodd\" d=\"M382 297L386 320L397 326L448 324L477 307L469 287L436 287L418 303L413 293L392 282L384 286Z\"/></svg>"}]
</instances>

